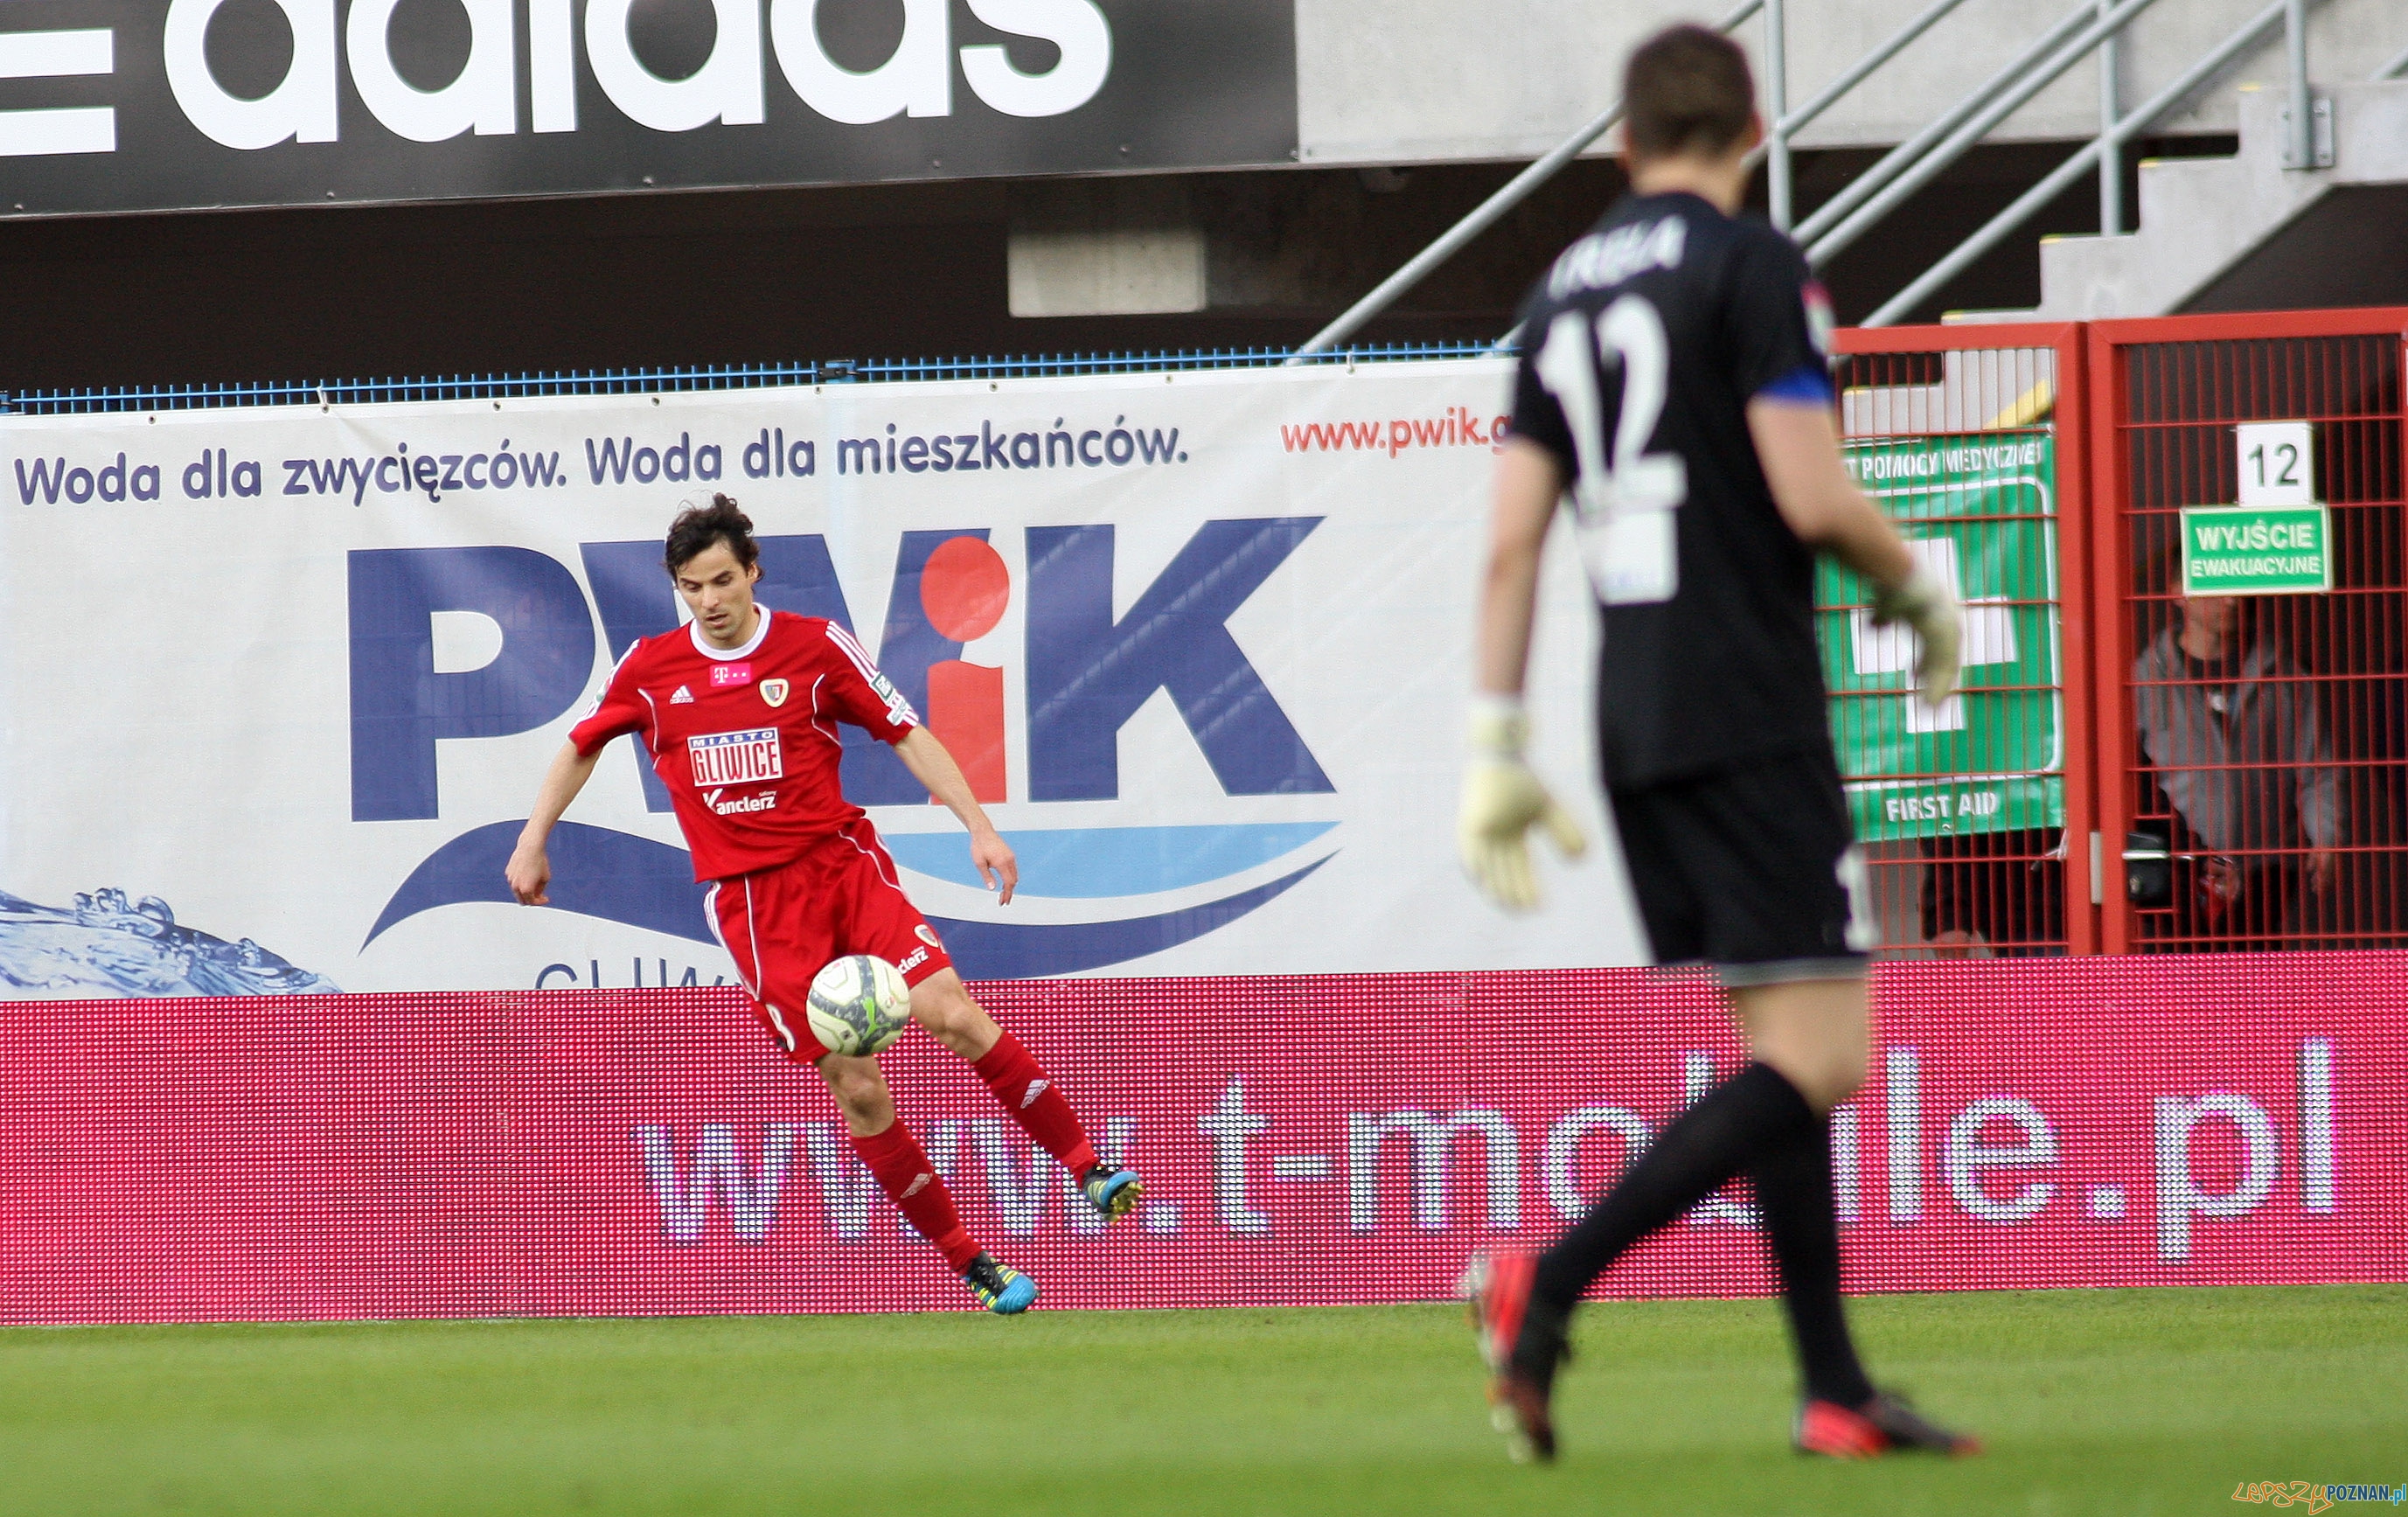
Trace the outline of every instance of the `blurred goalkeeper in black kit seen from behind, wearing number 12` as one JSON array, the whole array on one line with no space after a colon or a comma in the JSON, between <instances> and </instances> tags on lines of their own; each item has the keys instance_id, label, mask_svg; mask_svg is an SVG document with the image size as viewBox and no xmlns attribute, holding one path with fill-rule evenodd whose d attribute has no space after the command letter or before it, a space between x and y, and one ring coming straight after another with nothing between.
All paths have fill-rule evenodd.
<instances>
[{"instance_id":1,"label":"blurred goalkeeper in black kit seen from behind, wearing number 12","mask_svg":"<svg viewBox=\"0 0 2408 1517\"><path fill-rule=\"evenodd\" d=\"M1755 1187L1804 1368L1796 1447L1975 1452L1866 1380L1840 1308L1830 1108L1871 1052L1854 848L1813 638L1813 559L1919 638L1917 684L1955 686L1953 588L1917 568L1849 479L1830 325L1796 243L1736 212L1763 135L1746 55L1702 26L1642 43L1623 87L1630 195L1524 306L1498 462L1464 775L1464 867L1527 910L1531 824L1580 828L1522 758L1539 554L1570 496L1604 619L1606 797L1657 963L1712 963L1753 1062L1707 1091L1544 1255L1474 1262L1481 1351L1517 1457L1551 1459L1572 1305L1640 1238L1724 1182Z\"/></svg>"}]
</instances>

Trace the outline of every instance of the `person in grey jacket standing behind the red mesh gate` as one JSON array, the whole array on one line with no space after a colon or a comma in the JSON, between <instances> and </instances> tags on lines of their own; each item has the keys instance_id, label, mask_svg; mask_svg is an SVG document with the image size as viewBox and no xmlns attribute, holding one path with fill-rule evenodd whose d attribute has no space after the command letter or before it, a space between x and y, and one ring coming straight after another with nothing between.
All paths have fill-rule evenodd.
<instances>
[{"instance_id":1,"label":"person in grey jacket standing behind the red mesh gate","mask_svg":"<svg viewBox=\"0 0 2408 1517\"><path fill-rule=\"evenodd\" d=\"M2211 855L2174 872L2174 932L2283 939L2326 927L2341 771L2314 686L2237 597L2179 604L2131 672L2141 749L2189 833L2174 852Z\"/></svg>"}]
</instances>

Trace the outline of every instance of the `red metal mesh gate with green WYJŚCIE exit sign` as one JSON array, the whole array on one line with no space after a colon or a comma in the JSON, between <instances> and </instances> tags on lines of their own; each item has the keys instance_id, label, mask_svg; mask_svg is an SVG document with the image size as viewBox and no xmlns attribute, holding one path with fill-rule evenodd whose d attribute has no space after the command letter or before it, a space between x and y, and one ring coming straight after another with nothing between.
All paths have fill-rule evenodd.
<instances>
[{"instance_id":1,"label":"red metal mesh gate with green WYJ\u015aCIE exit sign","mask_svg":"<svg viewBox=\"0 0 2408 1517\"><path fill-rule=\"evenodd\" d=\"M2102 951L2408 944L2403 330L2090 327Z\"/></svg>"}]
</instances>

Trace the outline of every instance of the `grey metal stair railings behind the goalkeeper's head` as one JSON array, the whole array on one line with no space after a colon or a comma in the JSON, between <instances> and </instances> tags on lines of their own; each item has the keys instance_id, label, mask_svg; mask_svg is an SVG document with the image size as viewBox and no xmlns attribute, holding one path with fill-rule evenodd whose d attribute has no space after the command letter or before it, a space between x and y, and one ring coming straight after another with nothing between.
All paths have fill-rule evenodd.
<instances>
[{"instance_id":1,"label":"grey metal stair railings behind the goalkeeper's head","mask_svg":"<svg viewBox=\"0 0 2408 1517\"><path fill-rule=\"evenodd\" d=\"M1837 258L1845 248L1857 243L1866 231L1890 217L1900 205L1905 205L1917 190L1929 185L1936 176L1946 173L1958 159L1982 144L1991 130L1999 128L2008 116L2020 111L2059 79L2066 70L2085 58L2100 60L2100 130L2081 152L2073 154L2064 166L2059 166L2042 185L2035 185L2028 195L2018 197L2006 212L1975 231L1965 243L1936 262L1929 272L1907 284L1905 291L1885 301L1864 325L1878 327L1898 323L1917 303L1936 294L1948 279L1960 275L1982 253L1994 248L2003 236L2015 231L2028 222L2042 205L2061 195L2083 173L2097 173L2100 178L2100 231L2114 236L2126 231L2126 207L2124 207L2124 149L2126 144L2146 132L2150 125L2170 116L2191 94L2203 89L2215 75L2237 63L2251 46L2256 46L2273 24L2285 31L2285 75L2290 92L2290 123L2285 142L2285 161L2295 169L2316 166L2314 157L2314 92L2307 79L2307 7L2309 0L2273 0L2266 10L2251 17L2239 31L2227 36L2223 43L2211 48L2191 67L2186 67L2172 84L2153 94L2146 104L2133 111L2121 111L2117 72L2121 67L2121 36L2131 22L2153 5L2155 0L2081 0L2068 14L2056 19L2047 31L2023 46L2008 63L1991 72L1979 87L1975 87L1965 99L1955 101L1948 111L1934 118L1929 125L1910 135L1905 142L1885 152L1864 173L1849 181L1837 195L1820 205L1804 222L1792 224L1792 193L1794 193L1794 142L1799 132L1811 125L1823 111L1847 99L1857 87L1873 77L1883 65L1888 65L1910 43L1924 36L1931 26L1946 19L1963 5L1963 0L1931 0L1914 19L1900 26L1895 34L1883 39L1864 58L1852 63L1830 84L1816 92L1799 108L1789 108L1789 46L1787 46L1787 0L1746 0L1731 10L1722 22L1722 31L1731 31L1743 22L1763 14L1765 39L1763 39L1763 70L1765 70L1765 116L1770 125L1765 128L1765 140L1758 144L1753 159L1765 161L1765 188L1770 200L1772 224L1782 231L1796 236L1806 246L1806 258L1813 265L1825 265ZM2374 72L2374 79L2394 79L2408 75L2408 51L2401 51L2384 67ZM1553 178L1565 164L1577 159L1589 149L1606 130L1621 120L1623 104L1616 101L1577 132L1565 137L1544 159L1517 173L1488 200L1483 200L1471 214L1450 226L1438 241L1413 255L1404 267L1382 279L1370 294L1346 308L1334 323L1315 332L1303 347L1296 349L1291 364L1308 361L1312 354L1344 342L1353 332L1363 330L1365 323L1377 318L1382 311L1397 303L1409 289L1421 284L1438 265L1447 262L1479 234L1503 219L1512 207L1527 200L1539 185ZM1498 340L1498 349L1512 347L1517 332L1507 332Z\"/></svg>"}]
</instances>

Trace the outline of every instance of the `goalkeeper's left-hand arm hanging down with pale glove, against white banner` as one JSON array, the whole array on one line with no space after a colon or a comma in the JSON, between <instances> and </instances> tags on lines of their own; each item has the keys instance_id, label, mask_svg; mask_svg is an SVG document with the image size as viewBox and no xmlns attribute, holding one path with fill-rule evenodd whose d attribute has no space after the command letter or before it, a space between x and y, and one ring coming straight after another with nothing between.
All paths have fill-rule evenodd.
<instances>
[{"instance_id":1,"label":"goalkeeper's left-hand arm hanging down with pale glove, against white banner","mask_svg":"<svg viewBox=\"0 0 2408 1517\"><path fill-rule=\"evenodd\" d=\"M1481 583L1471 758L1464 766L1454 845L1471 884L1510 910L1539 905L1527 838L1534 821L1546 826L1565 857L1580 857L1587 848L1580 824L1522 758L1529 739L1522 679L1539 609L1539 559L1560 494L1563 470L1553 453L1527 438L1505 443L1491 510L1488 578Z\"/></svg>"}]
</instances>

